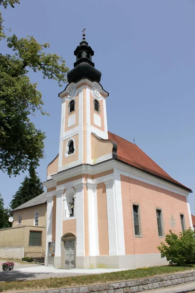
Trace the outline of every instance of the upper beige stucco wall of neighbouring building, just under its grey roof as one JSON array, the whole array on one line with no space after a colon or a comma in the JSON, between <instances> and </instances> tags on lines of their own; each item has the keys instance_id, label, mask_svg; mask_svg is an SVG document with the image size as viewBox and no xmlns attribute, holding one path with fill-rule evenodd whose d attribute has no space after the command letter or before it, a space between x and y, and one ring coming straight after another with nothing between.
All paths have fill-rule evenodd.
<instances>
[{"instance_id":1,"label":"upper beige stucco wall of neighbouring building, just under its grey roof","mask_svg":"<svg viewBox=\"0 0 195 293\"><path fill-rule=\"evenodd\" d=\"M46 226L46 210L47 205L42 204L39 206L31 207L28 209L20 209L13 212L13 224L12 227L19 227L18 217L21 216L22 226L34 226L35 212L39 211L39 226Z\"/></svg>"}]
</instances>

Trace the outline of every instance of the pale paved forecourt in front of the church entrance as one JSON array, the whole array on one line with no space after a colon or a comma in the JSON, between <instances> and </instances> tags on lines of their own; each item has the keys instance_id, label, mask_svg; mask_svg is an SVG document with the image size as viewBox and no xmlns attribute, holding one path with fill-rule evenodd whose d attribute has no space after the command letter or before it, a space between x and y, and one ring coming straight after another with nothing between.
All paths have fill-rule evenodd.
<instances>
[{"instance_id":1,"label":"pale paved forecourt in front of the church entrance","mask_svg":"<svg viewBox=\"0 0 195 293\"><path fill-rule=\"evenodd\" d=\"M124 269L125 270L125 269ZM40 265L17 265L14 270L0 271L0 281L20 281L60 278L69 276L78 276L85 274L97 274L104 272L118 272L122 269L57 269L54 267L44 267Z\"/></svg>"}]
</instances>

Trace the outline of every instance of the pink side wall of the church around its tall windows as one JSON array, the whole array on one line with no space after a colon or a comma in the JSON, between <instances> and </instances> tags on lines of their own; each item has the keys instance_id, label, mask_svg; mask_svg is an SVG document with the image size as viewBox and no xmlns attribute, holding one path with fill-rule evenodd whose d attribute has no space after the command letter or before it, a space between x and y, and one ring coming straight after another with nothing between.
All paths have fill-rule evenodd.
<instances>
[{"instance_id":1,"label":"pink side wall of the church around its tall windows","mask_svg":"<svg viewBox=\"0 0 195 293\"><path fill-rule=\"evenodd\" d=\"M124 221L125 253L158 253L157 246L164 238L158 237L156 208L162 209L164 234L181 231L180 213L184 214L186 228L190 227L186 197L153 185L120 175ZM132 203L140 205L142 237L134 237ZM169 219L174 215L176 227ZM135 252L134 252L135 251Z\"/></svg>"}]
</instances>

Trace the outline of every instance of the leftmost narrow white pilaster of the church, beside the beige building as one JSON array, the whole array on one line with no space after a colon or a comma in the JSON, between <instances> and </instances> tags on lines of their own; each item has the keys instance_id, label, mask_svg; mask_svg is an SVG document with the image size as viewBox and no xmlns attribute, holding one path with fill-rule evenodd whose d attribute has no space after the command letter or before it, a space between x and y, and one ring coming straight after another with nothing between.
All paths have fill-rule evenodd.
<instances>
[{"instance_id":1,"label":"leftmost narrow white pilaster of the church, beside the beige building","mask_svg":"<svg viewBox=\"0 0 195 293\"><path fill-rule=\"evenodd\" d=\"M53 195L47 198L47 217L46 217L46 256L48 254L48 242L52 242L52 218L53 218Z\"/></svg>"}]
</instances>

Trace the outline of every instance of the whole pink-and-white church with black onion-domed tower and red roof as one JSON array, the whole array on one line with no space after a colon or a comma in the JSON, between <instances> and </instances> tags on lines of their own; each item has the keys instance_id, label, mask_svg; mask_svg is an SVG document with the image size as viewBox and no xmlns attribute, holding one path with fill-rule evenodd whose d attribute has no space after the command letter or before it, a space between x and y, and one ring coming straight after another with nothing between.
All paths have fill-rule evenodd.
<instances>
[{"instance_id":1,"label":"whole pink-and-white church with black onion-domed tower and red roof","mask_svg":"<svg viewBox=\"0 0 195 293\"><path fill-rule=\"evenodd\" d=\"M106 99L94 51L74 51L59 93L59 154L47 167L45 265L139 268L167 264L157 246L193 227L188 194L137 145L107 129Z\"/></svg>"}]
</instances>

